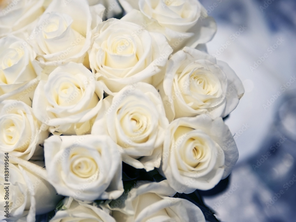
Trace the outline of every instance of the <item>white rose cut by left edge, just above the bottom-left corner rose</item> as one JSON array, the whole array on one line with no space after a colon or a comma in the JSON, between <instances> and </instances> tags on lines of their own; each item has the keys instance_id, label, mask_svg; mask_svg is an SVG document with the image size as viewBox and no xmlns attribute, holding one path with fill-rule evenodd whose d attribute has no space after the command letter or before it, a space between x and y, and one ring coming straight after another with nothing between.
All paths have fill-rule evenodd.
<instances>
[{"instance_id":1,"label":"white rose cut by left edge, just above the bottom-left corner rose","mask_svg":"<svg viewBox=\"0 0 296 222\"><path fill-rule=\"evenodd\" d=\"M29 160L32 156L43 160L41 144L49 132L27 104L17 100L0 102L0 151Z\"/></svg>"}]
</instances>

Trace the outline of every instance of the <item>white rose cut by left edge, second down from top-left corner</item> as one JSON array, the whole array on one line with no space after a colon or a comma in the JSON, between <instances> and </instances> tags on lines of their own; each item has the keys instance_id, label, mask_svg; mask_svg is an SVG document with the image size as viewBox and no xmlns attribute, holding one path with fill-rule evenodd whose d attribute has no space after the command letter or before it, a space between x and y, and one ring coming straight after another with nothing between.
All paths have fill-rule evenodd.
<instances>
[{"instance_id":1,"label":"white rose cut by left edge, second down from top-left corner","mask_svg":"<svg viewBox=\"0 0 296 222\"><path fill-rule=\"evenodd\" d=\"M36 53L24 42L11 35L0 39L0 101L17 99L32 104L38 84L33 68Z\"/></svg>"}]
</instances>

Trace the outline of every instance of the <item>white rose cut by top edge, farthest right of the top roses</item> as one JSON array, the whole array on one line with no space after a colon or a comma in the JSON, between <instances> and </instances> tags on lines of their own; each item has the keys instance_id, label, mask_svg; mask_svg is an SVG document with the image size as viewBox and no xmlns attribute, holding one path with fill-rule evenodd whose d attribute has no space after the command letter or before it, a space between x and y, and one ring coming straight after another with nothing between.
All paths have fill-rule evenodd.
<instances>
[{"instance_id":1,"label":"white rose cut by top edge, farthest right of the top roses","mask_svg":"<svg viewBox=\"0 0 296 222\"><path fill-rule=\"evenodd\" d=\"M148 30L165 34L174 52L184 46L195 48L216 33L215 20L198 0L119 0L128 20L147 24ZM140 10L141 13L136 10ZM143 16L144 15L144 16ZM158 24L157 24L158 23Z\"/></svg>"}]
</instances>

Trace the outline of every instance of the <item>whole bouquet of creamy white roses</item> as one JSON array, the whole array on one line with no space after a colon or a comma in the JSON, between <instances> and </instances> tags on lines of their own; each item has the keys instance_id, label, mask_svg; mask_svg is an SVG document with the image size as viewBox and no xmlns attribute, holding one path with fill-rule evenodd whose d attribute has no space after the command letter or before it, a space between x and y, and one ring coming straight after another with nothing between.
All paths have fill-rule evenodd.
<instances>
[{"instance_id":1,"label":"whole bouquet of creamy white roses","mask_svg":"<svg viewBox=\"0 0 296 222\"><path fill-rule=\"evenodd\" d=\"M199 1L119 2L1 1L1 220L35 221L65 196L50 221L205 221L173 196L231 172L222 118L242 83L206 53L216 24ZM122 162L166 179L127 191Z\"/></svg>"}]
</instances>

